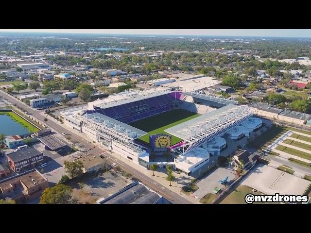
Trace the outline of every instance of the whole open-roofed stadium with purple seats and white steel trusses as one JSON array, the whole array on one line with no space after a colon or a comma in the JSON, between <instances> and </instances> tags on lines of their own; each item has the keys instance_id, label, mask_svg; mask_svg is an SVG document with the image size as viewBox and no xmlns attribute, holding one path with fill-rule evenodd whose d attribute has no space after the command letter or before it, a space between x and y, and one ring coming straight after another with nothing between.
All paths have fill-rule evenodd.
<instances>
[{"instance_id":1,"label":"whole open-roofed stadium with purple seats and white steel trusses","mask_svg":"<svg viewBox=\"0 0 311 233\"><path fill-rule=\"evenodd\" d=\"M73 129L140 166L170 164L186 174L220 154L225 133L239 139L261 126L252 110L233 98L162 87L111 95L61 116Z\"/></svg>"}]
</instances>

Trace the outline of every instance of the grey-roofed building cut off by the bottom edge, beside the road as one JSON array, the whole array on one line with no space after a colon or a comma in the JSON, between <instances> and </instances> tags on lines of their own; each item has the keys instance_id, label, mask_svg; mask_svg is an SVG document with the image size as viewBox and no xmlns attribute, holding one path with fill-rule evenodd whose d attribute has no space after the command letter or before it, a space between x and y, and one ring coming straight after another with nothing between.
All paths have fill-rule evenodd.
<instances>
[{"instance_id":1,"label":"grey-roofed building cut off by the bottom edge, beside the road","mask_svg":"<svg viewBox=\"0 0 311 233\"><path fill-rule=\"evenodd\" d=\"M171 202L155 191L136 181L119 192L104 199L97 200L98 204L170 204Z\"/></svg>"}]
</instances>

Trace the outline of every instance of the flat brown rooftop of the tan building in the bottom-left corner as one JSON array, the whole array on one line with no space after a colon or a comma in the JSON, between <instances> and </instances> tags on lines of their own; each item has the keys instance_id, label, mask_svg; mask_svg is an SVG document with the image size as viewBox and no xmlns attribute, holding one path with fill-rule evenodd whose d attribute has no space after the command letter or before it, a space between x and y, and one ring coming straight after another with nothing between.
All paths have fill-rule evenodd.
<instances>
[{"instance_id":1,"label":"flat brown rooftop of the tan building in the bottom-left corner","mask_svg":"<svg viewBox=\"0 0 311 233\"><path fill-rule=\"evenodd\" d=\"M4 179L0 181L0 187L2 189L10 188L12 185L11 183L15 183L17 181L20 181L26 185L26 187L32 187L35 184L43 183L47 181L47 179L36 169L26 171L22 174L19 174L17 176L9 177L7 179Z\"/></svg>"}]
</instances>

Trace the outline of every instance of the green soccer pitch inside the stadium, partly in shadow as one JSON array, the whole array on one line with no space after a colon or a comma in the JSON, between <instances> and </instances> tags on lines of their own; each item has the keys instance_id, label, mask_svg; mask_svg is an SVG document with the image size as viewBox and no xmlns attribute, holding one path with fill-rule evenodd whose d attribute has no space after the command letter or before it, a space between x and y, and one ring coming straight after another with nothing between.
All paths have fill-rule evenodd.
<instances>
[{"instance_id":1,"label":"green soccer pitch inside the stadium, partly in shadow","mask_svg":"<svg viewBox=\"0 0 311 233\"><path fill-rule=\"evenodd\" d=\"M149 143L149 135L156 133L166 133L164 130L178 125L184 121L190 120L200 116L197 113L191 113L184 109L173 109L171 111L161 113L155 116L150 116L135 122L130 123L129 125L148 132L148 134L139 137L140 140ZM169 134L169 133L166 133ZM172 145L181 142L182 139L172 135Z\"/></svg>"}]
</instances>

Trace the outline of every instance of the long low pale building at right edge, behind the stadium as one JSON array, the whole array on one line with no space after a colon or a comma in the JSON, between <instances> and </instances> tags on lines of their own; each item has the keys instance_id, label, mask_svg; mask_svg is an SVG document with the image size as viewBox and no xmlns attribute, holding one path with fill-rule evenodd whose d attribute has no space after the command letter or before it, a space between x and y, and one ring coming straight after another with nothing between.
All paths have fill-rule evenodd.
<instances>
[{"instance_id":1,"label":"long low pale building at right edge, behind the stadium","mask_svg":"<svg viewBox=\"0 0 311 233\"><path fill-rule=\"evenodd\" d=\"M311 115L277 108L266 103L251 103L254 114L298 125L311 125Z\"/></svg>"}]
</instances>

